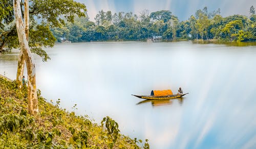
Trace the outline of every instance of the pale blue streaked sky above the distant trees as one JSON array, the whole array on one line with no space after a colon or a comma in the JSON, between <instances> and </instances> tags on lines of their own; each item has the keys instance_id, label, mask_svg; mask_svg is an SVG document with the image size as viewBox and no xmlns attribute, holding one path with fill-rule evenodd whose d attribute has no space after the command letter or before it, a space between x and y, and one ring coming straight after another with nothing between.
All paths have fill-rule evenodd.
<instances>
[{"instance_id":1,"label":"pale blue streaked sky above the distant trees","mask_svg":"<svg viewBox=\"0 0 256 149\"><path fill-rule=\"evenodd\" d=\"M256 9L256 0L77 0L87 6L91 21L95 21L95 15L100 11L133 12L140 14L143 10L151 12L169 10L180 20L187 20L194 15L196 10L205 6L208 12L221 9L223 17L242 14L249 16L250 7Z\"/></svg>"}]
</instances>

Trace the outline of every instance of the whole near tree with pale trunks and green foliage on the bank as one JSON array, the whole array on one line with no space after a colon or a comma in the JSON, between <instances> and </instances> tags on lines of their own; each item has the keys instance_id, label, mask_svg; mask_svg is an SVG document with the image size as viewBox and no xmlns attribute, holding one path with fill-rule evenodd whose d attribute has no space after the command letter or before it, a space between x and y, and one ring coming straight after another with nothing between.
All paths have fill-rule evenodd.
<instances>
[{"instance_id":1,"label":"whole near tree with pale trunks and green foliage on the bank","mask_svg":"<svg viewBox=\"0 0 256 149\"><path fill-rule=\"evenodd\" d=\"M85 16L84 12L86 11L86 6L69 0L53 0L50 2L13 0L13 3L11 1L3 1L0 5L5 6L0 8L1 12L5 12L4 14L0 14L1 24L5 27L3 28L2 26L0 30L0 36L1 39L3 39L0 41L1 52L3 49L6 49L6 47L10 50L12 48L20 48L16 81L18 84L21 84L22 77L20 76L23 76L24 64L26 62L28 71L29 112L30 114L36 114L38 108L35 65L31 52L41 56L43 61L49 59L49 56L41 47L54 45L56 39L50 27L60 27L65 23L63 18L73 22L75 15L79 17ZM71 7L72 9L70 9ZM14 11L11 12L10 8ZM11 22L14 16L15 24L12 24ZM41 21L40 24L38 24L36 17ZM7 26L8 28L6 30ZM29 34L29 32L32 34ZM18 85L19 88L21 86L22 85Z\"/></svg>"}]
</instances>

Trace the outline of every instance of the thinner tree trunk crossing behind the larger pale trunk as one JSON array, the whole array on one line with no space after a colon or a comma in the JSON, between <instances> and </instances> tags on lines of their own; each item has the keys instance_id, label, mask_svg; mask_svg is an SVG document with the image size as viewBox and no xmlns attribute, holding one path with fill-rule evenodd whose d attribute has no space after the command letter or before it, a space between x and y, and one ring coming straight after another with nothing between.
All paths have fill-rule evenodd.
<instances>
[{"instance_id":1,"label":"thinner tree trunk crossing behind the larger pale trunk","mask_svg":"<svg viewBox=\"0 0 256 149\"><path fill-rule=\"evenodd\" d=\"M28 0L25 0L24 2L24 20L25 20L25 33L26 33L26 39L29 41L29 2ZM18 57L18 67L17 67L17 76L16 76L16 82L18 84L18 88L21 89L23 86L22 77L24 72L24 65L25 65L25 58L23 53L20 51L19 57Z\"/></svg>"}]
</instances>

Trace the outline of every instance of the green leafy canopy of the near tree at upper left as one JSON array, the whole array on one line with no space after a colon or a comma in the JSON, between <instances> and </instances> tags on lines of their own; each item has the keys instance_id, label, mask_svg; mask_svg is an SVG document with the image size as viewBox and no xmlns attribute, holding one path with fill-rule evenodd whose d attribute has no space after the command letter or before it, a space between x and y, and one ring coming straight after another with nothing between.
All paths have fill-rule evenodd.
<instances>
[{"instance_id":1,"label":"green leafy canopy of the near tree at upper left","mask_svg":"<svg viewBox=\"0 0 256 149\"><path fill-rule=\"evenodd\" d=\"M6 0L0 3L0 52L19 48L15 23L11 23L14 19L12 3ZM24 1L21 3L24 5ZM73 23L75 16L85 17L87 9L84 4L69 0L32 0L29 5L29 46L32 53L47 61L49 56L42 47L53 47L56 41L50 27L61 27L65 24L64 20Z\"/></svg>"}]
</instances>

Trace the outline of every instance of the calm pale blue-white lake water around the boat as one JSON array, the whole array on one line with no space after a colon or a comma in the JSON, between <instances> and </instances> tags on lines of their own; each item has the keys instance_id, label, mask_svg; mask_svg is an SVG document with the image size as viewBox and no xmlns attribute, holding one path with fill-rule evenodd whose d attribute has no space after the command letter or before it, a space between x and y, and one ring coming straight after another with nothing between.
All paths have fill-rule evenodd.
<instances>
[{"instance_id":1,"label":"calm pale blue-white lake water around the boat","mask_svg":"<svg viewBox=\"0 0 256 149\"><path fill-rule=\"evenodd\" d=\"M100 123L109 115L122 134L151 148L256 148L256 46L191 42L59 44L36 59L46 98ZM15 79L17 52L0 73ZM27 78L27 77L26 77ZM145 102L131 94L178 87L183 100Z\"/></svg>"}]
</instances>

